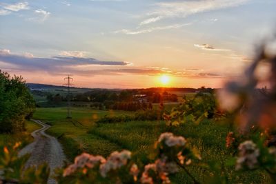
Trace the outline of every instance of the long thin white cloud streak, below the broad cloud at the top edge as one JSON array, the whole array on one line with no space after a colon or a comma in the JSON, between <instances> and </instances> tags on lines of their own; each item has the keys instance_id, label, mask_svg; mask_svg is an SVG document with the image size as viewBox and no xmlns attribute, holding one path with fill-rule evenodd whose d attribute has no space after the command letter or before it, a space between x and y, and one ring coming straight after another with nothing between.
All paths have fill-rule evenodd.
<instances>
[{"instance_id":1,"label":"long thin white cloud streak, below the broad cloud at the top edge","mask_svg":"<svg viewBox=\"0 0 276 184\"><path fill-rule=\"evenodd\" d=\"M181 28L186 25L190 25L191 23L181 23L181 24L174 24L174 25L167 25L163 27L154 27L154 28L148 28L148 29L143 29L143 30L117 30L114 33L124 33L124 34L143 34L143 33L150 33L156 30L170 30L170 29L176 29L176 28Z\"/></svg>"}]
</instances>

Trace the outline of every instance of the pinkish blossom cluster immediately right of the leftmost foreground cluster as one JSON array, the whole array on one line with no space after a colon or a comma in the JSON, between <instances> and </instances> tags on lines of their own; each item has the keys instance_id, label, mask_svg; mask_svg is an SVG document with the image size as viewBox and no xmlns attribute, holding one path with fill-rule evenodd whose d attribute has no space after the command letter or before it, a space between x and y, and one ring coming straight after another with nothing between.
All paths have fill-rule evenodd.
<instances>
[{"instance_id":1,"label":"pinkish blossom cluster immediately right of the leftmost foreground cluster","mask_svg":"<svg viewBox=\"0 0 276 184\"><path fill-rule=\"evenodd\" d=\"M100 165L101 176L106 177L110 170L117 170L123 165L128 163L128 160L131 158L131 152L124 150L122 152L112 152L108 157L106 163Z\"/></svg>"}]
</instances>

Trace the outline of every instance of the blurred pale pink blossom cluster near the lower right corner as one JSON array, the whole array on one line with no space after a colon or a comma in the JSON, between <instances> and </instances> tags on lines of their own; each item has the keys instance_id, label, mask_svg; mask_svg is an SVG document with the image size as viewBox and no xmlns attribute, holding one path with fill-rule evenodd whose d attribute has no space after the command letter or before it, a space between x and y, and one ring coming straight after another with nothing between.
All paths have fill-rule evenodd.
<instances>
[{"instance_id":1,"label":"blurred pale pink blossom cluster near the lower right corner","mask_svg":"<svg viewBox=\"0 0 276 184\"><path fill-rule=\"evenodd\" d=\"M239 156L236 163L236 170L244 167L252 170L258 165L259 149L253 141L245 141L239 145Z\"/></svg>"}]
</instances>

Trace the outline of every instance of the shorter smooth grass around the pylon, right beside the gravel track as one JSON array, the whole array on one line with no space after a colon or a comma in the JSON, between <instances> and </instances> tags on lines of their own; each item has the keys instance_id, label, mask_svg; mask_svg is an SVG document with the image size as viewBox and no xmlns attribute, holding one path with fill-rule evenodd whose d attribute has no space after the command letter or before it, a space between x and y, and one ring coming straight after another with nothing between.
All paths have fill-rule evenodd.
<instances>
[{"instance_id":1,"label":"shorter smooth grass around the pylon, right beside the gravel track","mask_svg":"<svg viewBox=\"0 0 276 184\"><path fill-rule=\"evenodd\" d=\"M87 134L95 121L106 114L121 114L117 111L100 111L89 108L72 108L72 119L66 119L66 108L37 108L34 119L40 119L52 127L49 134L58 137L63 144L68 159L72 161L81 152L108 156L113 150L121 150L121 146L102 139L97 135ZM124 112L130 114L130 112Z\"/></svg>"}]
</instances>

